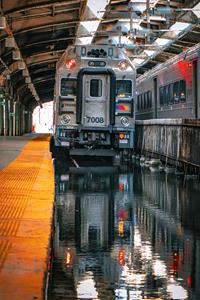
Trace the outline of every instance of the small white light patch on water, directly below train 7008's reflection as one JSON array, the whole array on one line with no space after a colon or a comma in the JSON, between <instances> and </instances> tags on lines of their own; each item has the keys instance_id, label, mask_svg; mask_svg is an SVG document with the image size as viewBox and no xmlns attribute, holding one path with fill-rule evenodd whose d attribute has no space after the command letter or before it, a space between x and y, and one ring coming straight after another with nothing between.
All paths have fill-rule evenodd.
<instances>
[{"instance_id":1,"label":"small white light patch on water, directly below train 7008's reflection","mask_svg":"<svg viewBox=\"0 0 200 300\"><path fill-rule=\"evenodd\" d=\"M85 275L85 279L81 280L78 283L77 296L78 299L99 300L92 272L87 272Z\"/></svg>"}]
</instances>

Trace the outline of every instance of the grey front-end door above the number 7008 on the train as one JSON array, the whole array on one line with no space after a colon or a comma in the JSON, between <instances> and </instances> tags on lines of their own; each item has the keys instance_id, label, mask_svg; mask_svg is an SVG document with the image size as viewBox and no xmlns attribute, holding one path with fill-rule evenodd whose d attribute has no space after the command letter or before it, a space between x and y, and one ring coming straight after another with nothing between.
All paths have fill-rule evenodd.
<instances>
[{"instance_id":1,"label":"grey front-end door above the number 7008 on the train","mask_svg":"<svg viewBox=\"0 0 200 300\"><path fill-rule=\"evenodd\" d=\"M110 76L109 74L83 75L82 120L85 126L110 124Z\"/></svg>"}]
</instances>

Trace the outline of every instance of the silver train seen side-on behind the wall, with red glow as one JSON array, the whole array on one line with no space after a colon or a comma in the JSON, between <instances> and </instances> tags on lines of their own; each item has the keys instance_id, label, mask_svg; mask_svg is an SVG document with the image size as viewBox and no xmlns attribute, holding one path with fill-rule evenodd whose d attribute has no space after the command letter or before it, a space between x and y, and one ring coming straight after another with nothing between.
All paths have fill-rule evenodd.
<instances>
[{"instance_id":1,"label":"silver train seen side-on behind the wall, with red glow","mask_svg":"<svg viewBox=\"0 0 200 300\"><path fill-rule=\"evenodd\" d=\"M137 78L136 119L200 118L200 44Z\"/></svg>"}]
</instances>

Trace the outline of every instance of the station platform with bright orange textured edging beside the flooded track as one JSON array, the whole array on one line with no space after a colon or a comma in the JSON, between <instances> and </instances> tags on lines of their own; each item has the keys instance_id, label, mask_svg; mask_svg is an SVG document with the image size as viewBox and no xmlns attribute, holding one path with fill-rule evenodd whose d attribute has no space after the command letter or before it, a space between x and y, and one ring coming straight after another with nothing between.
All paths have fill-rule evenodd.
<instances>
[{"instance_id":1,"label":"station platform with bright orange textured edging beside the flooded track","mask_svg":"<svg viewBox=\"0 0 200 300\"><path fill-rule=\"evenodd\" d=\"M44 298L54 201L49 138L0 138L0 299Z\"/></svg>"}]
</instances>

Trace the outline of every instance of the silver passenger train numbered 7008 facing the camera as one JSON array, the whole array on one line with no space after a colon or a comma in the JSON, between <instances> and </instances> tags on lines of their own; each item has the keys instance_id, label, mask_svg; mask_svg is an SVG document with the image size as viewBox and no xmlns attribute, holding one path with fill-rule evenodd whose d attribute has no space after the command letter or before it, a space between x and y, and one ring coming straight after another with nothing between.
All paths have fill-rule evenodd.
<instances>
[{"instance_id":1,"label":"silver passenger train numbered 7008 facing the camera","mask_svg":"<svg viewBox=\"0 0 200 300\"><path fill-rule=\"evenodd\" d=\"M131 151L135 78L119 47L69 47L57 65L52 155Z\"/></svg>"}]
</instances>

